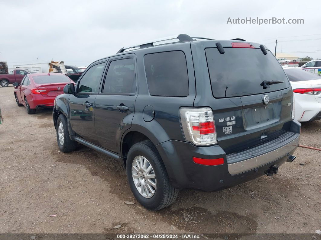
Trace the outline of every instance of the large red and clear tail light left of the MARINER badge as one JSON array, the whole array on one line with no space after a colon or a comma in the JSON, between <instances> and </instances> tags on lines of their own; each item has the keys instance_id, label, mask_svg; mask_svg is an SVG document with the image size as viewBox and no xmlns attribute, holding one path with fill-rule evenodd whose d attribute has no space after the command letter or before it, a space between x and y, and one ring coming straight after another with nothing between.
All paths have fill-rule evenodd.
<instances>
[{"instance_id":1,"label":"large red and clear tail light left of the MARINER badge","mask_svg":"<svg viewBox=\"0 0 321 240\"><path fill-rule=\"evenodd\" d=\"M217 144L211 108L181 108L179 113L187 142L201 146Z\"/></svg>"}]
</instances>

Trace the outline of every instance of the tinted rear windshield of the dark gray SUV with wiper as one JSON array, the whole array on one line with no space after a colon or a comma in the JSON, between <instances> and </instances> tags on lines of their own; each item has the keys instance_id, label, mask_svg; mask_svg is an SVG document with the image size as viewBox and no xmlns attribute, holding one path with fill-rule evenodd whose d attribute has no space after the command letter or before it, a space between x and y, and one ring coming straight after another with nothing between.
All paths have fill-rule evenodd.
<instances>
[{"instance_id":1,"label":"tinted rear windshield of the dark gray SUV with wiper","mask_svg":"<svg viewBox=\"0 0 321 240\"><path fill-rule=\"evenodd\" d=\"M273 92L290 87L289 81L270 51L261 49L225 47L220 54L217 48L206 48L206 60L213 96L237 97ZM284 83L263 89L264 80L281 80Z\"/></svg>"}]
</instances>

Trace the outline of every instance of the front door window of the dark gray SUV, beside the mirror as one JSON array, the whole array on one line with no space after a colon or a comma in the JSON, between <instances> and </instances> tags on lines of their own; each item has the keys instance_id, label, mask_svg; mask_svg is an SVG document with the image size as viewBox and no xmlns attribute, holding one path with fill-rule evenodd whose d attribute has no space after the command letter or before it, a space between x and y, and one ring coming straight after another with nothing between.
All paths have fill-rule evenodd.
<instances>
[{"instance_id":1,"label":"front door window of the dark gray SUV, beside the mirror","mask_svg":"<svg viewBox=\"0 0 321 240\"><path fill-rule=\"evenodd\" d=\"M92 66L80 79L78 93L98 93L105 62Z\"/></svg>"}]
</instances>

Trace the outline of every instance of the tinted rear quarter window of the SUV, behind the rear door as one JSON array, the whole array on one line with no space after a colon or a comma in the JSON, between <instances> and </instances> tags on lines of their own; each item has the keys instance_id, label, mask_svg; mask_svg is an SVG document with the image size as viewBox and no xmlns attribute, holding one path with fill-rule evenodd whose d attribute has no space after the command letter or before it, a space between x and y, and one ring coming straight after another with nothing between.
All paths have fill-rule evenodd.
<instances>
[{"instance_id":1,"label":"tinted rear quarter window of the SUV, behind the rear door","mask_svg":"<svg viewBox=\"0 0 321 240\"><path fill-rule=\"evenodd\" d=\"M153 96L188 96L186 57L182 51L144 56L148 89Z\"/></svg>"}]
</instances>

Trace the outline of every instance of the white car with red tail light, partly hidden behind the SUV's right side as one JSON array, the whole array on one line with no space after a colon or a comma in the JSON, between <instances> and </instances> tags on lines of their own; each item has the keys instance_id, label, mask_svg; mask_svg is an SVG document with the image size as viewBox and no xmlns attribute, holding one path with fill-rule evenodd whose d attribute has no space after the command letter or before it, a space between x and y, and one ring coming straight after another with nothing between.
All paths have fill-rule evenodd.
<instances>
[{"instance_id":1,"label":"white car with red tail light, partly hidden behind the SUV's right side","mask_svg":"<svg viewBox=\"0 0 321 240\"><path fill-rule=\"evenodd\" d=\"M283 67L294 96L294 119L299 122L321 119L321 77L300 68Z\"/></svg>"}]
</instances>

